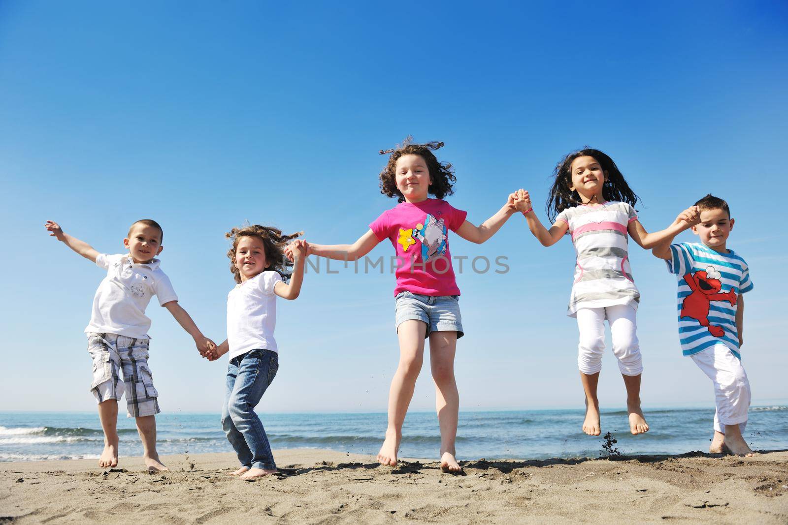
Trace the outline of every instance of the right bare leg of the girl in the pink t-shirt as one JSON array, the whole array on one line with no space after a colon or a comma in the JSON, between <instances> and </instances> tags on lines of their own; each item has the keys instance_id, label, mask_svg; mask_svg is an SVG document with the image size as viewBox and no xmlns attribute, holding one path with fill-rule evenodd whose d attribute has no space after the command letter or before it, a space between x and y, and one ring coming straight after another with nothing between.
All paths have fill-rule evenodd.
<instances>
[{"instance_id":1,"label":"right bare leg of the girl in the pink t-shirt","mask_svg":"<svg viewBox=\"0 0 788 525\"><path fill-rule=\"evenodd\" d=\"M459 392L454 376L457 332L436 331L429 335L429 363L435 382L435 405L440 424L440 468L444 472L463 470L455 457Z\"/></svg>"}]
</instances>

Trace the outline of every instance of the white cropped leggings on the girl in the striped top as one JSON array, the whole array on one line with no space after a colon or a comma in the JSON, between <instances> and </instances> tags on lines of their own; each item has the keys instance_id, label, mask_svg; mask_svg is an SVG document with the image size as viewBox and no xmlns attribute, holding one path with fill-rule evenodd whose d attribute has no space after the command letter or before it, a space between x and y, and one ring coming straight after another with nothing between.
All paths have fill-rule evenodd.
<instances>
[{"instance_id":1,"label":"white cropped leggings on the girl in the striped top","mask_svg":"<svg viewBox=\"0 0 788 525\"><path fill-rule=\"evenodd\" d=\"M584 374L596 374L602 369L604 353L604 320L608 320L613 338L613 353L619 360L623 375L640 375L643 363L637 342L635 310L629 305L605 308L578 309L578 368Z\"/></svg>"}]
</instances>

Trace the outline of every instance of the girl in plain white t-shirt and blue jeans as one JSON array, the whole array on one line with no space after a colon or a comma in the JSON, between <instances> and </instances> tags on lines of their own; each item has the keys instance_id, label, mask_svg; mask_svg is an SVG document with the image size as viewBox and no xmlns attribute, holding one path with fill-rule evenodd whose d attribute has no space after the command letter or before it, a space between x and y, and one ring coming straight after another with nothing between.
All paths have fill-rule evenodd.
<instances>
[{"instance_id":1,"label":"girl in plain white t-shirt and blue jeans","mask_svg":"<svg viewBox=\"0 0 788 525\"><path fill-rule=\"evenodd\" d=\"M282 235L276 228L257 224L232 228L227 234L232 239L232 249L227 253L230 272L238 284L227 295L227 340L208 358L216 360L229 353L221 426L241 464L232 475L241 479L277 471L255 406L279 369L277 341L273 338L276 296L295 299L301 291L306 242L292 244L295 257L290 282L284 283L281 275L289 265L282 249L298 235Z\"/></svg>"}]
</instances>

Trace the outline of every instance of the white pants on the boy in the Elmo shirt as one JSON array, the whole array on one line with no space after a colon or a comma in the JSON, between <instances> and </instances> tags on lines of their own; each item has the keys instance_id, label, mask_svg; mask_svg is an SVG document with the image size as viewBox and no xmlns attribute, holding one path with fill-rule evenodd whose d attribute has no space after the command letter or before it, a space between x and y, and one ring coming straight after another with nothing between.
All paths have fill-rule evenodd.
<instances>
[{"instance_id":1,"label":"white pants on the boy in the Elmo shirt","mask_svg":"<svg viewBox=\"0 0 788 525\"><path fill-rule=\"evenodd\" d=\"M714 430L725 434L725 425L738 424L744 433L749 409L747 372L734 353L725 345L715 345L692 356L708 379L714 383Z\"/></svg>"}]
</instances>

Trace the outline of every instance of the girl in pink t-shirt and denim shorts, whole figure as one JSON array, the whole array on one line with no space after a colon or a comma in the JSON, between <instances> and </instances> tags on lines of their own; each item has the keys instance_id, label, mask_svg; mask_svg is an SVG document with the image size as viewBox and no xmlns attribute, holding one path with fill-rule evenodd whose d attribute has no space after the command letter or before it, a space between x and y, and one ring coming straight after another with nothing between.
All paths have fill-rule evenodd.
<instances>
[{"instance_id":1,"label":"girl in pink t-shirt and denim shorts, whole figure","mask_svg":"<svg viewBox=\"0 0 788 525\"><path fill-rule=\"evenodd\" d=\"M449 252L449 231L481 244L492 237L515 212L511 194L507 203L481 226L468 222L466 212L442 200L453 193L456 178L452 165L437 160L433 150L443 142L412 144L410 138L390 153L381 172L381 193L400 204L377 217L370 229L353 244L324 246L310 243L314 253L338 261L356 261L385 238L396 250L396 331L400 339L400 364L388 392L388 428L377 454L381 464L397 464L402 424L411 403L429 337L429 357L435 381L440 422L440 467L462 470L455 458L459 394L454 377L457 339L463 336L459 313L459 288ZM429 198L433 194L436 198Z\"/></svg>"}]
</instances>

